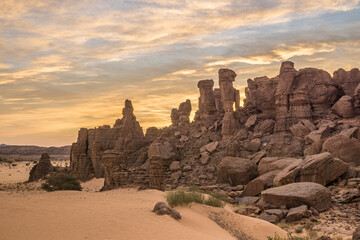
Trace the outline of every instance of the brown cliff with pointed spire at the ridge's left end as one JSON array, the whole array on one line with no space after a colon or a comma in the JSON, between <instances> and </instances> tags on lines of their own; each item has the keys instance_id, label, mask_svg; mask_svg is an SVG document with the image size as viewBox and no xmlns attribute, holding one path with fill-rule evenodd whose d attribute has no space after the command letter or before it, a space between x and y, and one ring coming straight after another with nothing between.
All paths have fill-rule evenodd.
<instances>
[{"instance_id":1,"label":"brown cliff with pointed spire at the ridge's left end","mask_svg":"<svg viewBox=\"0 0 360 240\"><path fill-rule=\"evenodd\" d=\"M72 145L70 167L80 180L104 177L103 154L107 150L131 154L140 149L145 141L142 128L133 113L131 101L125 101L123 118L114 127L82 128L77 142Z\"/></svg>"}]
</instances>

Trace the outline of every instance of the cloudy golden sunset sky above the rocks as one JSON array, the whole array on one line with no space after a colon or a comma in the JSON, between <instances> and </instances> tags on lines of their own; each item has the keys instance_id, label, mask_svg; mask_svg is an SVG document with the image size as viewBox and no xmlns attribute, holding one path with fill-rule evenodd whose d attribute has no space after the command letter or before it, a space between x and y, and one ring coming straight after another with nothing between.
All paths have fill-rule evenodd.
<instances>
[{"instance_id":1,"label":"cloudy golden sunset sky above the rocks","mask_svg":"<svg viewBox=\"0 0 360 240\"><path fill-rule=\"evenodd\" d=\"M125 99L145 130L218 69L248 78L282 61L360 66L360 0L1 0L0 143L69 145L113 125Z\"/></svg>"}]
</instances>

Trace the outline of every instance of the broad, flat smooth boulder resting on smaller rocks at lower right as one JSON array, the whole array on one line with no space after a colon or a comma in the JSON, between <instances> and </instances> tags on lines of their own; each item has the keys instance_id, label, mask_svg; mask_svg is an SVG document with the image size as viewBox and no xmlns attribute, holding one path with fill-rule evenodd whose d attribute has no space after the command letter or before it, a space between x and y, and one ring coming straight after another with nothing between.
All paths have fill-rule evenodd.
<instances>
[{"instance_id":1,"label":"broad, flat smooth boulder resting on smaller rocks at lower right","mask_svg":"<svg viewBox=\"0 0 360 240\"><path fill-rule=\"evenodd\" d=\"M311 182L290 183L261 192L261 200L276 207L287 208L307 205L322 212L331 207L331 193L321 184Z\"/></svg>"}]
</instances>

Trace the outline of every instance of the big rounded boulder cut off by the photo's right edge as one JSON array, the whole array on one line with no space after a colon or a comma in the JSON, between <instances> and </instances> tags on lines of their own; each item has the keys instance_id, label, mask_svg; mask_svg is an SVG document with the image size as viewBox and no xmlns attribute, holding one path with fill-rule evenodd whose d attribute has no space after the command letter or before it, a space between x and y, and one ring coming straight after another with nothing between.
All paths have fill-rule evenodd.
<instances>
[{"instance_id":1,"label":"big rounded boulder cut off by the photo's right edge","mask_svg":"<svg viewBox=\"0 0 360 240\"><path fill-rule=\"evenodd\" d=\"M335 135L324 142L322 151L328 151L345 162L360 165L360 140L356 138Z\"/></svg>"}]
</instances>

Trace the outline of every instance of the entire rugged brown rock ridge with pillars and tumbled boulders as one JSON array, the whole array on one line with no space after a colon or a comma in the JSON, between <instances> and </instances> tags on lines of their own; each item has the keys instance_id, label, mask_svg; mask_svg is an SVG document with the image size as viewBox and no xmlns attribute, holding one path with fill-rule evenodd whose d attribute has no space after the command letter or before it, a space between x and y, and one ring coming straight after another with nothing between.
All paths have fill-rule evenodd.
<instances>
[{"instance_id":1,"label":"entire rugged brown rock ridge with pillars and tumbled boulders","mask_svg":"<svg viewBox=\"0 0 360 240\"><path fill-rule=\"evenodd\" d=\"M354 197L346 201L359 208L359 70L339 69L332 77L321 69L296 70L294 63L283 62L278 76L248 80L243 107L235 78L234 71L220 69L219 88L214 89L212 79L199 81L194 121L186 100L171 111L171 126L149 128L145 135L126 100L123 118L113 127L79 131L71 149L73 174L82 180L105 177L104 190L218 189L234 202L256 204L259 216L271 222L336 208L341 197L328 189L332 186L354 189ZM293 197L285 194L290 200L270 194L292 184L304 186ZM300 201L299 189L314 191L302 193L308 199Z\"/></svg>"}]
</instances>

